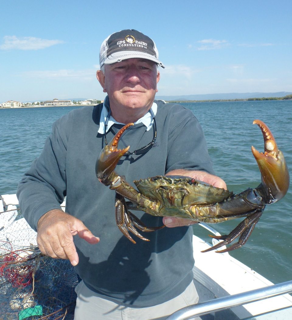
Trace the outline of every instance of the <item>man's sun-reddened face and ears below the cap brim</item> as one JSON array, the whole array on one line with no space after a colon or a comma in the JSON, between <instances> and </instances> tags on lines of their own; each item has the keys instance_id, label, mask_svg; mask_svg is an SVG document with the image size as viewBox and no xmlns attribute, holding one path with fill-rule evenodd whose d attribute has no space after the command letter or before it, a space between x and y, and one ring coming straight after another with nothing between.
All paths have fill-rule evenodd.
<instances>
[{"instance_id":1,"label":"man's sun-reddened face and ears below the cap brim","mask_svg":"<svg viewBox=\"0 0 292 320\"><path fill-rule=\"evenodd\" d=\"M98 75L112 110L120 107L150 109L159 78L155 62L136 58L105 65L104 74Z\"/></svg>"}]
</instances>

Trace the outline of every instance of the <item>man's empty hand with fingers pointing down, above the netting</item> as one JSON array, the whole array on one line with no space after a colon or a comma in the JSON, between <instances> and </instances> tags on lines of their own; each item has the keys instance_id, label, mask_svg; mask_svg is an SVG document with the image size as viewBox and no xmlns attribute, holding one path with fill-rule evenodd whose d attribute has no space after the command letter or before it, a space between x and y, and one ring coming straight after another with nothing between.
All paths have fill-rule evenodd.
<instances>
[{"instance_id":1,"label":"man's empty hand with fingers pointing down, above the netting","mask_svg":"<svg viewBox=\"0 0 292 320\"><path fill-rule=\"evenodd\" d=\"M52 258L69 259L73 266L79 262L73 236L90 244L99 242L83 222L66 212L54 209L46 212L37 224L37 244L41 252Z\"/></svg>"}]
</instances>

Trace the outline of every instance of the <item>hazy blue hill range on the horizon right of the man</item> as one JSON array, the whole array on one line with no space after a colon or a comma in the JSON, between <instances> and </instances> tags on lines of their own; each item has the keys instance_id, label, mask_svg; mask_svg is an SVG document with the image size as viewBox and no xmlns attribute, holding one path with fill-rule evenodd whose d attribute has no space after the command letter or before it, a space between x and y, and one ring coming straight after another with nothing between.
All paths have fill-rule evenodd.
<instances>
[{"instance_id":1,"label":"hazy blue hill range on the horizon right of the man","mask_svg":"<svg viewBox=\"0 0 292 320\"><path fill-rule=\"evenodd\" d=\"M188 100L229 100L249 98L281 98L292 92L246 92L246 93L211 93L211 94L190 94L182 96L156 96L157 100L165 101L188 101Z\"/></svg>"}]
</instances>

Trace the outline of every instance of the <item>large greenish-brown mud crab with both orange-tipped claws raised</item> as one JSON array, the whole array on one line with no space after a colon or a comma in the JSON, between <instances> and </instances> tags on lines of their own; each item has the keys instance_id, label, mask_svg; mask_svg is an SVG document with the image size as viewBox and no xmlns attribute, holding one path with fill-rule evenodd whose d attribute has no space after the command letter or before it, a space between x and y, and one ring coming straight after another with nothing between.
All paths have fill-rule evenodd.
<instances>
[{"instance_id":1,"label":"large greenish-brown mud crab with both orange-tipped claws raised","mask_svg":"<svg viewBox=\"0 0 292 320\"><path fill-rule=\"evenodd\" d=\"M261 171L262 182L257 188L248 188L237 195L192 178L178 176L156 176L134 181L139 190L137 191L114 171L120 158L130 148L117 148L122 133L133 125L126 124L110 144L102 149L96 162L97 178L116 192L116 223L122 233L136 243L128 230L149 241L140 235L137 229L154 231L164 227L147 228L129 210L142 210L154 216L176 216L209 223L246 217L229 235L212 236L222 241L204 252L230 244L237 237L238 242L217 252L231 251L244 245L260 219L265 205L280 200L289 187L286 161L272 132L260 120L255 120L253 124L260 127L264 136L264 153L251 147ZM130 202L126 202L124 198Z\"/></svg>"}]
</instances>

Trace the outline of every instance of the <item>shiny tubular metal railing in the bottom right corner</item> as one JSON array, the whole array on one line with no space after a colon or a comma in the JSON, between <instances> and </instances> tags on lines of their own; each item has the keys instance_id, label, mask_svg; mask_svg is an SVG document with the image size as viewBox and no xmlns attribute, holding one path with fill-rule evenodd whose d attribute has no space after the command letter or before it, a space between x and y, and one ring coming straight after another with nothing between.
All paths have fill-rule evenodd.
<instances>
[{"instance_id":1,"label":"shiny tubular metal railing in the bottom right corner","mask_svg":"<svg viewBox=\"0 0 292 320\"><path fill-rule=\"evenodd\" d=\"M260 289L233 294L227 297L217 298L193 306L182 308L167 317L167 320L187 320L195 316L203 316L232 307L241 306L246 303L255 302L285 293L292 292L292 280L274 284ZM292 304L291 304L292 307ZM277 309L279 310L279 309ZM274 310L276 311L276 310ZM255 315L256 316L256 315Z\"/></svg>"}]
</instances>

